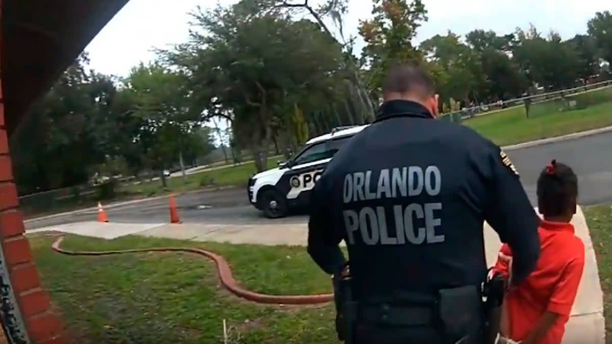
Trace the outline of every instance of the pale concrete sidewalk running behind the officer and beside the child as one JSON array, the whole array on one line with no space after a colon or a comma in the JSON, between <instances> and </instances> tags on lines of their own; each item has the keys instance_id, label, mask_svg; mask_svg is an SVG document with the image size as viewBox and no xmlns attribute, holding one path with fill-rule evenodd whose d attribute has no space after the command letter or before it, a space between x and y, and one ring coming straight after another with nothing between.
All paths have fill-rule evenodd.
<instances>
[{"instance_id":1,"label":"pale concrete sidewalk running behind the officer and beside the child","mask_svg":"<svg viewBox=\"0 0 612 344\"><path fill-rule=\"evenodd\" d=\"M603 318L603 293L599 282L597 261L586 219L580 208L573 219L576 234L586 249L586 264L578 296L572 308L572 318L567 324L564 344L605 344L605 321ZM152 224L134 225L128 223L84 222L70 225L40 228L27 233L61 231L84 236L114 237L136 234L149 237L166 237L192 241L229 242L231 244L260 245L306 245L307 225L211 225L211 224ZM498 235L485 223L485 253L487 263L492 266L501 245Z\"/></svg>"}]
</instances>

